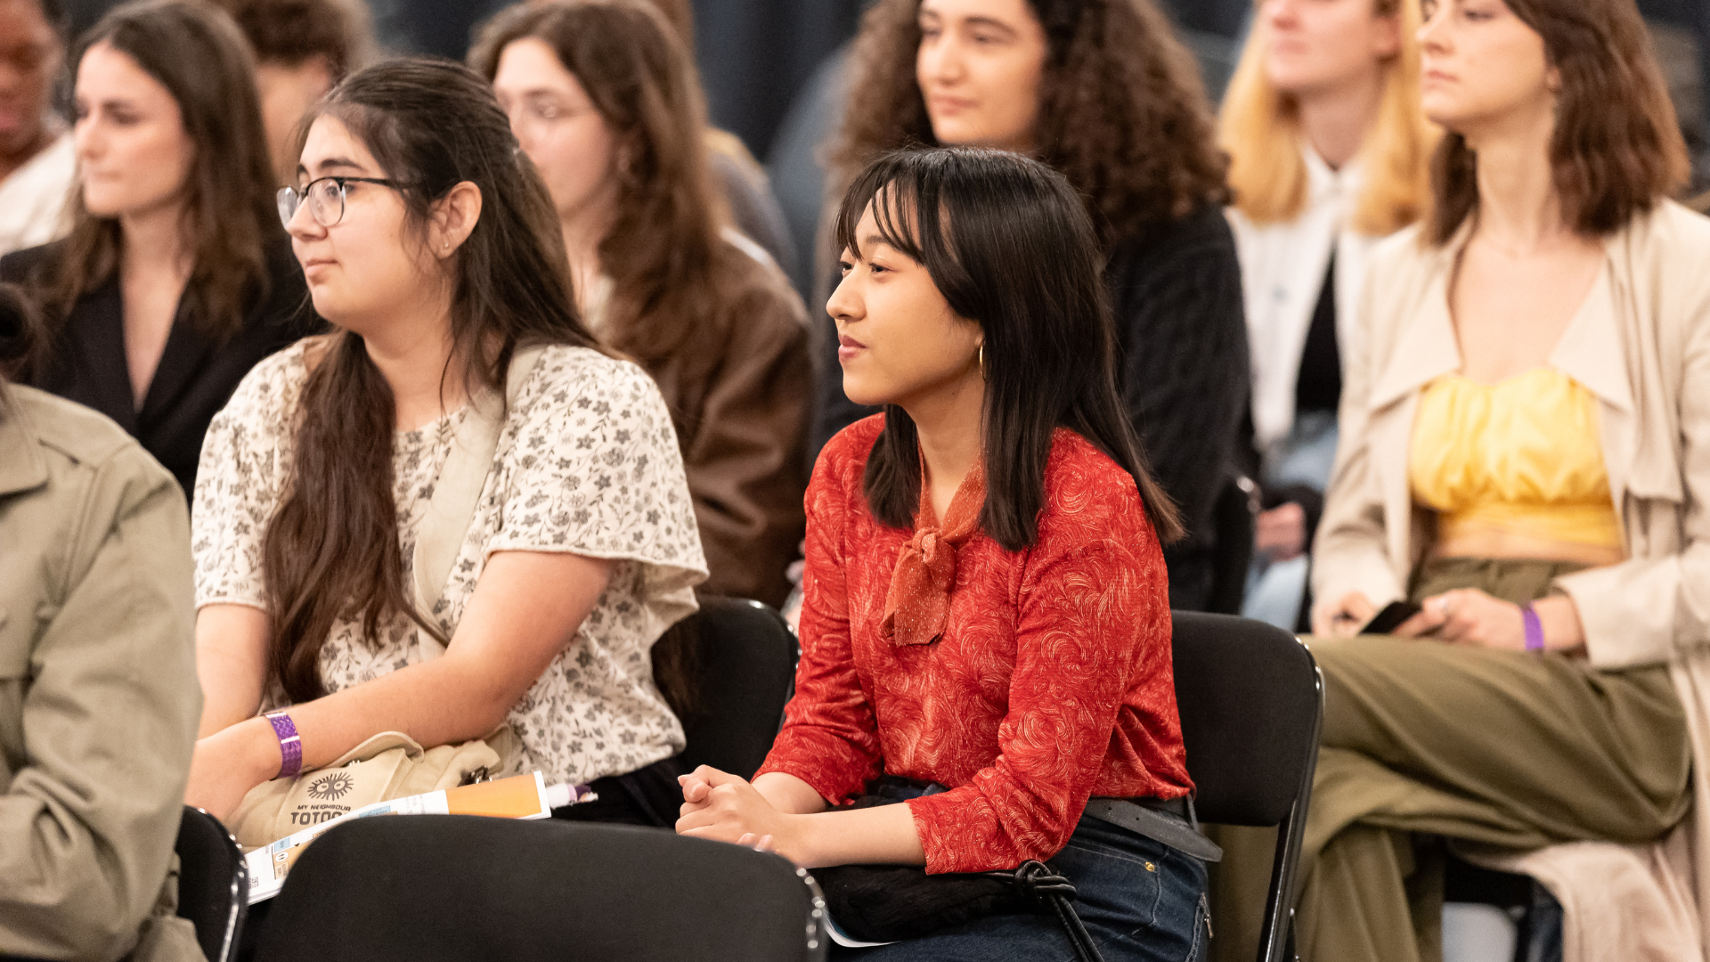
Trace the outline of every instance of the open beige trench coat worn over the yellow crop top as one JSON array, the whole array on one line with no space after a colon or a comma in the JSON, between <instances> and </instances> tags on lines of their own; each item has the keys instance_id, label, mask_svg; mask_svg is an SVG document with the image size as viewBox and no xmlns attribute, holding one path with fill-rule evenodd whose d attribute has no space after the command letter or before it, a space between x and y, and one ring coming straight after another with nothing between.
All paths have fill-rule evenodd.
<instances>
[{"instance_id":1,"label":"open beige trench coat worn over the yellow crop top","mask_svg":"<svg viewBox=\"0 0 1710 962\"><path fill-rule=\"evenodd\" d=\"M1315 541L1320 606L1406 592L1426 544L1409 442L1419 389L1460 368L1447 284L1467 231L1426 248L1418 229L1377 252L1366 337L1347 358L1342 445ZM1568 962L1705 959L1710 919L1710 219L1676 204L1607 241L1616 312L1582 315L1549 363L1597 395L1604 466L1628 560L1558 580L1594 666L1666 662L1686 707L1695 811L1655 846L1582 842L1505 859L1568 911ZM1595 320L1602 317L1602 320Z\"/></svg>"}]
</instances>

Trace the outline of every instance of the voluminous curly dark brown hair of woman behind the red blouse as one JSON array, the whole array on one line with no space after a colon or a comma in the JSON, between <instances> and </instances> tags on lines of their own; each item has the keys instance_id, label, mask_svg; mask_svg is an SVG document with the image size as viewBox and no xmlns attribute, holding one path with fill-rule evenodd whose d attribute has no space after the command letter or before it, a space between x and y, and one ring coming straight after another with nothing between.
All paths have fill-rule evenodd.
<instances>
[{"instance_id":1,"label":"voluminous curly dark brown hair of woman behind the red blouse","mask_svg":"<svg viewBox=\"0 0 1710 962\"><path fill-rule=\"evenodd\" d=\"M1038 159L1086 199L1103 246L1224 202L1228 163L1194 55L1153 0L1028 0L1050 45ZM920 0L881 0L862 19L833 161L937 144L915 82Z\"/></svg>"}]
</instances>

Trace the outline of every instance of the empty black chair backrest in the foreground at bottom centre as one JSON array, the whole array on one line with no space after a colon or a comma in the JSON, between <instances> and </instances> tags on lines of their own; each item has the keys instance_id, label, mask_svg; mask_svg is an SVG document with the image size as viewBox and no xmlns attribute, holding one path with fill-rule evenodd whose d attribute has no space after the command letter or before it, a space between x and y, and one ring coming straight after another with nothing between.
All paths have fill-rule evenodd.
<instances>
[{"instance_id":1,"label":"empty black chair backrest in the foreground at bottom centre","mask_svg":"<svg viewBox=\"0 0 1710 962\"><path fill-rule=\"evenodd\" d=\"M787 859L657 828L458 815L316 839L258 962L824 959L824 899Z\"/></svg>"}]
</instances>

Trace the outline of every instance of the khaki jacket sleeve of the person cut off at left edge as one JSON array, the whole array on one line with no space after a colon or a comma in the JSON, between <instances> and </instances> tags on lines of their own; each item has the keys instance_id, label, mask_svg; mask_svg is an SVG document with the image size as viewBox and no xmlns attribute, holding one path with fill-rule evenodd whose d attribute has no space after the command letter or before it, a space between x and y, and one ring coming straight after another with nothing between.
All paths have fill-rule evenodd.
<instances>
[{"instance_id":1,"label":"khaki jacket sleeve of the person cut off at left edge","mask_svg":"<svg viewBox=\"0 0 1710 962\"><path fill-rule=\"evenodd\" d=\"M120 959L173 858L202 690L183 495L140 448L96 469L48 577L0 794L0 953ZM60 502L67 503L67 502Z\"/></svg>"}]
</instances>

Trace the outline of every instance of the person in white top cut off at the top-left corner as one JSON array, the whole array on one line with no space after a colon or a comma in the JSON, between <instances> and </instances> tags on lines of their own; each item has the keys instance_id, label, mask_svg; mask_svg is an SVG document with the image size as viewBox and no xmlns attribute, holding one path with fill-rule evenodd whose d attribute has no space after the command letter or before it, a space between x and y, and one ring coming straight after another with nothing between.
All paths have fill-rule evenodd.
<instances>
[{"instance_id":1,"label":"person in white top cut off at the top-left corner","mask_svg":"<svg viewBox=\"0 0 1710 962\"><path fill-rule=\"evenodd\" d=\"M72 132L53 111L65 72L67 15L60 0L0 0L0 253L58 240L70 229L67 197L77 176Z\"/></svg>"}]
</instances>

